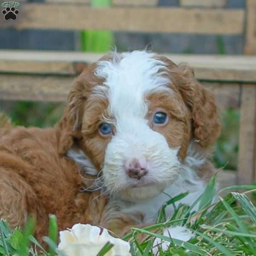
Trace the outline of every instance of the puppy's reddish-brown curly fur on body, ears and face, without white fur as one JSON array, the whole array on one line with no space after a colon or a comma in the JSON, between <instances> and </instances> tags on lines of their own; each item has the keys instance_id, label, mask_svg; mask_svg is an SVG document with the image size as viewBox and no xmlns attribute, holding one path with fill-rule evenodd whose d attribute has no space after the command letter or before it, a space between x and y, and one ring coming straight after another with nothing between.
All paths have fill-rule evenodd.
<instances>
[{"instance_id":1,"label":"puppy's reddish-brown curly fur on body, ears and face, without white fur","mask_svg":"<svg viewBox=\"0 0 256 256\"><path fill-rule=\"evenodd\" d=\"M198 150L206 150L220 133L214 97L195 80L191 68L157 58L169 64L168 76L172 81L169 86L176 101L172 99L170 105L164 94L149 95L150 108L159 107L157 104L162 102L160 107L172 112L176 121L162 130L159 128L159 132L170 145L181 144L180 157L184 159L192 138L199 140ZM12 128L6 122L0 128L0 218L7 219L13 228L23 227L28 216L34 216L39 240L47 235L49 214L57 216L60 230L81 222L109 227L122 234L125 227L137 224L127 215L109 220L108 196L99 196L99 191L81 192L91 185L92 176L80 175L79 166L66 157L67 150L76 144L98 171L104 161L110 138L99 136L97 128L108 101L92 95L93 87L103 82L94 75L95 67L96 64L88 65L74 82L67 109L55 128ZM182 110L180 105L185 108ZM175 132L177 141L169 136ZM141 218L138 216L137 220Z\"/></svg>"}]
</instances>

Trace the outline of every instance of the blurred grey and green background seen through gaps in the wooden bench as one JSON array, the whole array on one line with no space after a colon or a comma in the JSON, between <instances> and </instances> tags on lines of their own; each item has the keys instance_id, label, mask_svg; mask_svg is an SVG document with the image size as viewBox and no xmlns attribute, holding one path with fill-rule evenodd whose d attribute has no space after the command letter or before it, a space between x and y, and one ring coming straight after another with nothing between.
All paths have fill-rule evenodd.
<instances>
[{"instance_id":1,"label":"blurred grey and green background seen through gaps in the wooden bench","mask_svg":"<svg viewBox=\"0 0 256 256\"><path fill-rule=\"evenodd\" d=\"M115 4L154 8L197 8L202 12L208 9L244 10L246 0L144 0L122 1L113 0ZM29 0L17 1L49 4L49 2L66 4L63 1ZM74 5L88 4L88 1L69 1ZM137 2L137 3L136 3ZM140 2L140 3L139 3ZM142 3L143 2L143 3ZM111 0L92 0L91 6L112 6ZM55 6L56 8L56 6ZM2 8L3 9L3 8ZM20 12L20 15L22 14ZM58 9L56 9L58 12ZM47 18L47 13L45 14ZM2 17L1 17L2 18ZM103 17L104 18L104 17ZM19 16L17 17L19 19ZM130 51L134 49L152 49L159 53L200 54L200 55L242 55L245 53L245 35L239 33L169 33L169 32L122 32L108 30L72 30L72 29L19 29L14 26L4 26L8 21L1 21L1 49L29 49L44 51L83 51L102 52L112 50ZM97 23L97 20L94 21ZM4 25L3 25L4 23ZM177 24L169 24L176 26ZM231 24L232 26L232 24ZM0 101L0 111L4 111L15 125L49 127L61 117L65 103L32 102L32 101ZM223 130L215 145L214 161L217 167L236 170L238 168L239 151L239 110L226 108L221 111Z\"/></svg>"}]
</instances>

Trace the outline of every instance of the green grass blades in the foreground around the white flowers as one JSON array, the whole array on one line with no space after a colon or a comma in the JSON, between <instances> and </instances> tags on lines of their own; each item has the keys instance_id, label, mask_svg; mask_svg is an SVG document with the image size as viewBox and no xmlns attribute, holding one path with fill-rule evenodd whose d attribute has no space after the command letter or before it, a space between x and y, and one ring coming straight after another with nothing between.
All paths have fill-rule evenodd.
<instances>
[{"instance_id":1,"label":"green grass blades in the foreground around the white flowers","mask_svg":"<svg viewBox=\"0 0 256 256\"><path fill-rule=\"evenodd\" d=\"M188 206L179 201L188 193L170 198L160 209L156 224L145 228L131 228L131 233L123 239L130 241L133 256L152 256L155 238L169 241L169 249L165 252L159 247L160 256L248 256L256 255L256 207L252 204L248 192L256 186L232 186L228 189L248 189L247 192L230 192L224 198L216 198L216 177L209 181L204 193ZM192 208L198 204L198 210ZM175 212L166 216L165 209L172 205ZM163 236L164 227L185 226L193 231L194 236L187 242ZM43 249L33 237L35 221L29 220L26 228L14 231L9 229L6 221L0 221L0 255L20 256L54 256L57 247L58 226L54 215L49 217L49 236L44 241L49 250ZM138 236L143 234L144 241ZM103 256L111 248L110 244L102 248L99 255Z\"/></svg>"}]
</instances>

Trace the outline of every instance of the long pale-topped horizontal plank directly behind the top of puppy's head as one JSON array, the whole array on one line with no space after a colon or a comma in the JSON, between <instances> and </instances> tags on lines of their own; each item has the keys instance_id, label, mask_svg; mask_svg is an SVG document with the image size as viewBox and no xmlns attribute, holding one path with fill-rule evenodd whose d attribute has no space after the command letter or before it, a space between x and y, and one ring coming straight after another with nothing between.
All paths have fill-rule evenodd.
<instances>
[{"instance_id":1,"label":"long pale-topped horizontal plank directly behind the top of puppy's head","mask_svg":"<svg viewBox=\"0 0 256 256\"><path fill-rule=\"evenodd\" d=\"M103 54L0 50L0 73L75 75L74 63L97 61ZM186 62L199 80L256 82L256 56L169 55L175 63Z\"/></svg>"}]
</instances>

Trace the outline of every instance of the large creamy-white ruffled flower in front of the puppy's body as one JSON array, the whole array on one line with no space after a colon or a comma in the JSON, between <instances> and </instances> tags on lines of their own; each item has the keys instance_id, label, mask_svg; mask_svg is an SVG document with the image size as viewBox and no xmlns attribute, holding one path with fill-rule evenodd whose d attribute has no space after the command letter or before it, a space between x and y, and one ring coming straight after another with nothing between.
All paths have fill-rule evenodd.
<instances>
[{"instance_id":1,"label":"large creamy-white ruffled flower in front of the puppy's body","mask_svg":"<svg viewBox=\"0 0 256 256\"><path fill-rule=\"evenodd\" d=\"M96 256L107 242L114 244L106 256L131 256L130 244L114 238L108 230L90 224L75 224L71 229L60 231L57 252L66 256Z\"/></svg>"}]
</instances>

